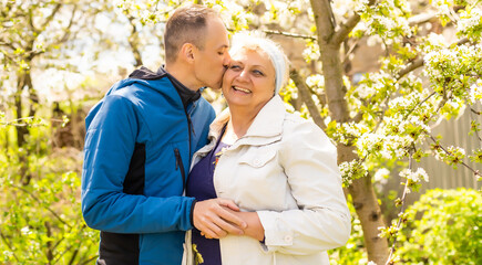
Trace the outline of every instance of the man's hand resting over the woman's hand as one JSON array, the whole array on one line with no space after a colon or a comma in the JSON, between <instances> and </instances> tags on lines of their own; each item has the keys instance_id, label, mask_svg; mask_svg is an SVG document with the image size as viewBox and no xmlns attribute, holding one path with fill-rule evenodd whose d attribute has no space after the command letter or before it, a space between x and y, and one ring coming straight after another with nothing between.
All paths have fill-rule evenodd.
<instances>
[{"instance_id":1,"label":"man's hand resting over the woman's hand","mask_svg":"<svg viewBox=\"0 0 482 265\"><path fill-rule=\"evenodd\" d=\"M221 239L229 234L244 234L247 224L224 208L239 211L239 208L227 199L211 199L196 202L193 212L194 226L207 239Z\"/></svg>"}]
</instances>

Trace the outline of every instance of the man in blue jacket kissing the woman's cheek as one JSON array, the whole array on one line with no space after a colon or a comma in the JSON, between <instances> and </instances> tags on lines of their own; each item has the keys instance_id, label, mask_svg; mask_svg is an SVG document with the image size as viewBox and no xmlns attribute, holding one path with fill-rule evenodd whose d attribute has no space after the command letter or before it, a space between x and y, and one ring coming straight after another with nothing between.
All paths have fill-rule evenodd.
<instances>
[{"instance_id":1,"label":"man in blue jacket kissing the woman's cheek","mask_svg":"<svg viewBox=\"0 0 482 265\"><path fill-rule=\"evenodd\" d=\"M201 87L221 87L229 63L227 31L211 9L178 9L166 23L166 66L115 84L89 113L82 213L101 231L98 264L180 264L184 232L238 233L224 206L182 197L193 153L214 119Z\"/></svg>"}]
</instances>

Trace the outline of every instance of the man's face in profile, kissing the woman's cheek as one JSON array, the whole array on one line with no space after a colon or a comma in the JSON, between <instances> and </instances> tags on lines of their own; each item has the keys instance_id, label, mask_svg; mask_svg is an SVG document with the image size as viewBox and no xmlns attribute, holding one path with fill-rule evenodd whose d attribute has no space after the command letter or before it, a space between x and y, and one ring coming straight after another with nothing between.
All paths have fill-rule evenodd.
<instances>
[{"instance_id":1,"label":"man's face in profile, kissing the woman's cheek","mask_svg":"<svg viewBox=\"0 0 482 265\"><path fill-rule=\"evenodd\" d=\"M199 86L218 89L223 74L229 64L229 39L227 30L219 18L207 21L204 49L196 49L194 62L194 77Z\"/></svg>"}]
</instances>

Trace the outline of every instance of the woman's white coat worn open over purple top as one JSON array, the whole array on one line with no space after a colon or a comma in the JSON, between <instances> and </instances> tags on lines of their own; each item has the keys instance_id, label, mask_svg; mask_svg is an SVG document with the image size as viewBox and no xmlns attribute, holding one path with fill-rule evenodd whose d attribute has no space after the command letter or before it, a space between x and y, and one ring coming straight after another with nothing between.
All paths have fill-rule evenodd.
<instances>
[{"instance_id":1,"label":"woman's white coat worn open over purple top","mask_svg":"<svg viewBox=\"0 0 482 265\"><path fill-rule=\"evenodd\" d=\"M213 121L211 142L192 167L214 148L228 119L226 109ZM279 96L221 156L213 181L218 198L256 211L265 230L264 244L249 236L221 239L224 265L328 265L326 251L350 236L335 146L314 123L287 113ZM192 256L188 232L185 264L193 264Z\"/></svg>"}]
</instances>

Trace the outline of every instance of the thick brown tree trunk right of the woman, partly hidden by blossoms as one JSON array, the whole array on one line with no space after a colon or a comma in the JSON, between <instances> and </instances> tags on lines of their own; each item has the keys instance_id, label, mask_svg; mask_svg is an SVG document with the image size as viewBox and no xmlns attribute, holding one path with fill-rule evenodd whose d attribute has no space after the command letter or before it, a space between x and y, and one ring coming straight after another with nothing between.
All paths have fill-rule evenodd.
<instances>
[{"instance_id":1,"label":"thick brown tree trunk right of the woman, partly hidden by blossoms","mask_svg":"<svg viewBox=\"0 0 482 265\"><path fill-rule=\"evenodd\" d=\"M330 2L329 0L311 0L310 2L317 26L318 45L325 77L325 91L330 116L338 123L346 123L350 117L348 104L345 99L346 88L343 86L343 72L340 61L341 42L334 40L337 32L335 31L335 19ZM338 163L359 159L353 150L355 147L339 144ZM388 258L389 247L387 240L378 236L378 227L384 226L384 223L371 183L371 177L368 176L353 180L348 191L351 194L355 210L357 211L363 230L368 259L379 265L384 264Z\"/></svg>"}]
</instances>

